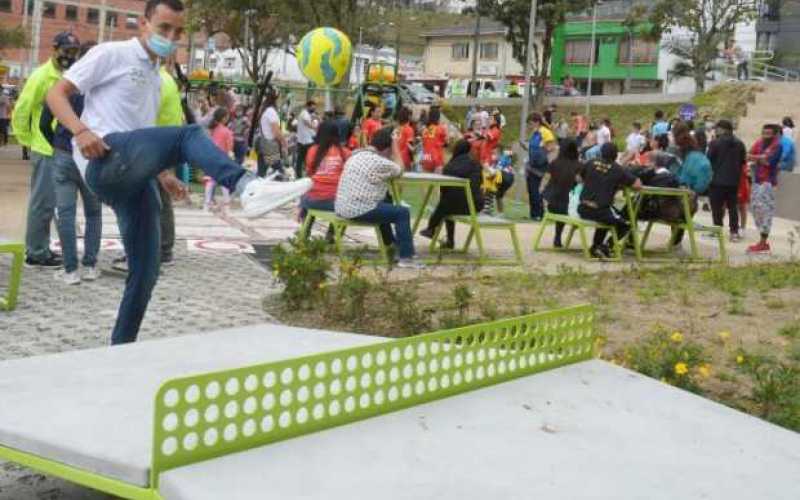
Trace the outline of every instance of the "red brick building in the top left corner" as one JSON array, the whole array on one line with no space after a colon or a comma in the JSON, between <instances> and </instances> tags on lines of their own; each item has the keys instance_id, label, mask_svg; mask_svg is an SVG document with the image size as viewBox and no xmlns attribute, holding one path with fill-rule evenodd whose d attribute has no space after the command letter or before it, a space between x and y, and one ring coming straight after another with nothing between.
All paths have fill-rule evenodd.
<instances>
[{"instance_id":1,"label":"red brick building in the top left corner","mask_svg":"<svg viewBox=\"0 0 800 500\"><path fill-rule=\"evenodd\" d=\"M144 6L144 0L0 0L0 26L23 26L31 42L29 48L4 51L2 64L9 67L12 78L27 76L47 61L53 38L62 31L72 31L81 42L137 36ZM186 59L186 45L184 41L178 53L181 62Z\"/></svg>"}]
</instances>

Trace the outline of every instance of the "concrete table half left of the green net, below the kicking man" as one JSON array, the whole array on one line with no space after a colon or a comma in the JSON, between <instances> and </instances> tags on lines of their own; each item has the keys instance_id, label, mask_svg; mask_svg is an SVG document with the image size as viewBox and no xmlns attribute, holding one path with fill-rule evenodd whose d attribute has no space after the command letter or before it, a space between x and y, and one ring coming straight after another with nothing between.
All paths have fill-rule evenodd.
<instances>
[{"instance_id":1,"label":"concrete table half left of the green net, below the kicking man","mask_svg":"<svg viewBox=\"0 0 800 500\"><path fill-rule=\"evenodd\" d=\"M0 444L147 486L153 397L169 378L381 342L258 325L0 363Z\"/></svg>"}]
</instances>

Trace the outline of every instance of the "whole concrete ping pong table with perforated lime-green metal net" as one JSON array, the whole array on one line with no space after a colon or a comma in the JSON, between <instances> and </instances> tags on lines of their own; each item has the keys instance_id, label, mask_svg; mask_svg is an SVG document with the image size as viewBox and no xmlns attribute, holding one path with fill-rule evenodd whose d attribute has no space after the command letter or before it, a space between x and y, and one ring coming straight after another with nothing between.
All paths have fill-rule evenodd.
<instances>
[{"instance_id":1,"label":"whole concrete ping pong table with perforated lime-green metal net","mask_svg":"<svg viewBox=\"0 0 800 500\"><path fill-rule=\"evenodd\" d=\"M0 459L123 498L800 497L800 435L592 360L578 306L0 363Z\"/></svg>"}]
</instances>

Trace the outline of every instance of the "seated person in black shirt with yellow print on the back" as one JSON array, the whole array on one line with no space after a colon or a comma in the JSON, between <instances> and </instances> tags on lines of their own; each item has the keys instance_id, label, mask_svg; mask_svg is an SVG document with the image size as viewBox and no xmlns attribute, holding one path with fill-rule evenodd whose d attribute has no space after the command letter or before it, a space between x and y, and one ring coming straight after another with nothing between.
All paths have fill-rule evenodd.
<instances>
[{"instance_id":1,"label":"seated person in black shirt with yellow print on the back","mask_svg":"<svg viewBox=\"0 0 800 500\"><path fill-rule=\"evenodd\" d=\"M581 169L583 193L578 214L582 219L616 227L621 240L627 236L630 226L614 208L614 196L624 187L641 189L642 181L616 162L618 153L614 143L603 144L600 149L600 159L586 163ZM611 256L611 250L605 241L607 233L606 229L595 230L590 250L592 257Z\"/></svg>"}]
</instances>

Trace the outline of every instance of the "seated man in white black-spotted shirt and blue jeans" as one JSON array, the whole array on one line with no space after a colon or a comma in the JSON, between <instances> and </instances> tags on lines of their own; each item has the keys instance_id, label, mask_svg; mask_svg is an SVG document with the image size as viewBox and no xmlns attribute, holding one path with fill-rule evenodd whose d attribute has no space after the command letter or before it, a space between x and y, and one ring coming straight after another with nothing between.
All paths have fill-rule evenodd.
<instances>
[{"instance_id":1,"label":"seated man in white black-spotted shirt and blue jeans","mask_svg":"<svg viewBox=\"0 0 800 500\"><path fill-rule=\"evenodd\" d=\"M344 164L334 209L336 215L358 222L380 224L383 241L397 242L398 267L424 267L414 257L411 213L408 208L386 202L389 182L403 175L403 167L392 161L392 128L380 129L370 147L355 151ZM392 233L395 225L397 239Z\"/></svg>"}]
</instances>

